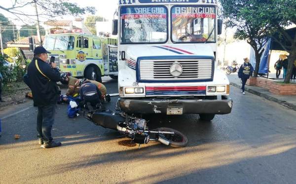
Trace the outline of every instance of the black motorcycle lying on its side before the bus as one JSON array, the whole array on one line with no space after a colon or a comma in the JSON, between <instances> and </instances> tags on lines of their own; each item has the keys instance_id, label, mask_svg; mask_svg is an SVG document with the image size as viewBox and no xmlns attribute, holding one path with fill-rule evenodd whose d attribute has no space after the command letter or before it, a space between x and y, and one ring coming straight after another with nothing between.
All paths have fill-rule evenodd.
<instances>
[{"instance_id":1,"label":"black motorcycle lying on its side before the bus","mask_svg":"<svg viewBox=\"0 0 296 184\"><path fill-rule=\"evenodd\" d=\"M85 110L83 116L95 125L119 131L130 138L133 143L148 144L149 141L158 141L171 147L185 147L187 137L172 128L157 128L148 130L147 121L121 111Z\"/></svg>"}]
</instances>

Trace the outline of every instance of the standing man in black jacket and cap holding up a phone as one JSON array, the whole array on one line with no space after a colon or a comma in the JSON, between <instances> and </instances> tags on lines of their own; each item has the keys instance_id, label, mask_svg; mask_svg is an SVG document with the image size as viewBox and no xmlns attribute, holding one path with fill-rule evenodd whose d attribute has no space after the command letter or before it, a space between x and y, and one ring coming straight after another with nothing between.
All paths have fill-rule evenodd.
<instances>
[{"instance_id":1,"label":"standing man in black jacket and cap holding up a phone","mask_svg":"<svg viewBox=\"0 0 296 184\"><path fill-rule=\"evenodd\" d=\"M38 46L34 49L34 58L28 66L29 86L32 90L34 106L38 107L37 137L43 148L59 147L62 144L54 142L51 128L54 123L56 102L59 90L56 82L60 81L60 72L55 63L48 64L50 53Z\"/></svg>"}]
</instances>

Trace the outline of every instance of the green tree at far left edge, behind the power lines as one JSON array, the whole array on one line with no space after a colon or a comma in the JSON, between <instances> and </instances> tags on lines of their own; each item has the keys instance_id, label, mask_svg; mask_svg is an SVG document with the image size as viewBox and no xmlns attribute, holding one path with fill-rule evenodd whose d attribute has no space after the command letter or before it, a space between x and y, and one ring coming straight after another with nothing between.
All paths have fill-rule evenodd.
<instances>
[{"instance_id":1,"label":"green tree at far left edge, behind the power lines","mask_svg":"<svg viewBox=\"0 0 296 184\"><path fill-rule=\"evenodd\" d=\"M16 26L1 13L0 13L0 26L2 30L2 38L4 43L16 39L16 35L17 35Z\"/></svg>"}]
</instances>

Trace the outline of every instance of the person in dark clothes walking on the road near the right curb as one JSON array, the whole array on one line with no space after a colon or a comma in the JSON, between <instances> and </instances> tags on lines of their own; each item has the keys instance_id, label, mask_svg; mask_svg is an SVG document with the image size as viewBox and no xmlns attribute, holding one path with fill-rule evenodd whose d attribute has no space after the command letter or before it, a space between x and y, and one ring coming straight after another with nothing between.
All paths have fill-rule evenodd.
<instances>
[{"instance_id":1,"label":"person in dark clothes walking on the road near the right curb","mask_svg":"<svg viewBox=\"0 0 296 184\"><path fill-rule=\"evenodd\" d=\"M241 92L245 95L245 85L247 80L252 76L254 72L253 66L249 63L249 58L244 58L244 63L238 70L238 77L242 79L242 90Z\"/></svg>"}]
</instances>

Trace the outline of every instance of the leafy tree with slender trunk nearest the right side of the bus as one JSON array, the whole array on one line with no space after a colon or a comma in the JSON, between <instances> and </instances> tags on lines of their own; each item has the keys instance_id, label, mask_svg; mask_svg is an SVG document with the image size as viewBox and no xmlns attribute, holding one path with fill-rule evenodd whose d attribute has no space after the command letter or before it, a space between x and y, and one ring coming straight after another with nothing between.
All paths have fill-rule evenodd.
<instances>
[{"instance_id":1,"label":"leafy tree with slender trunk nearest the right side of the bus","mask_svg":"<svg viewBox=\"0 0 296 184\"><path fill-rule=\"evenodd\" d=\"M222 17L226 26L236 28L234 38L247 40L255 51L256 67L254 76L258 76L259 64L264 52L263 41L268 34L268 25L258 15L264 8L263 0L220 0Z\"/></svg>"}]
</instances>

